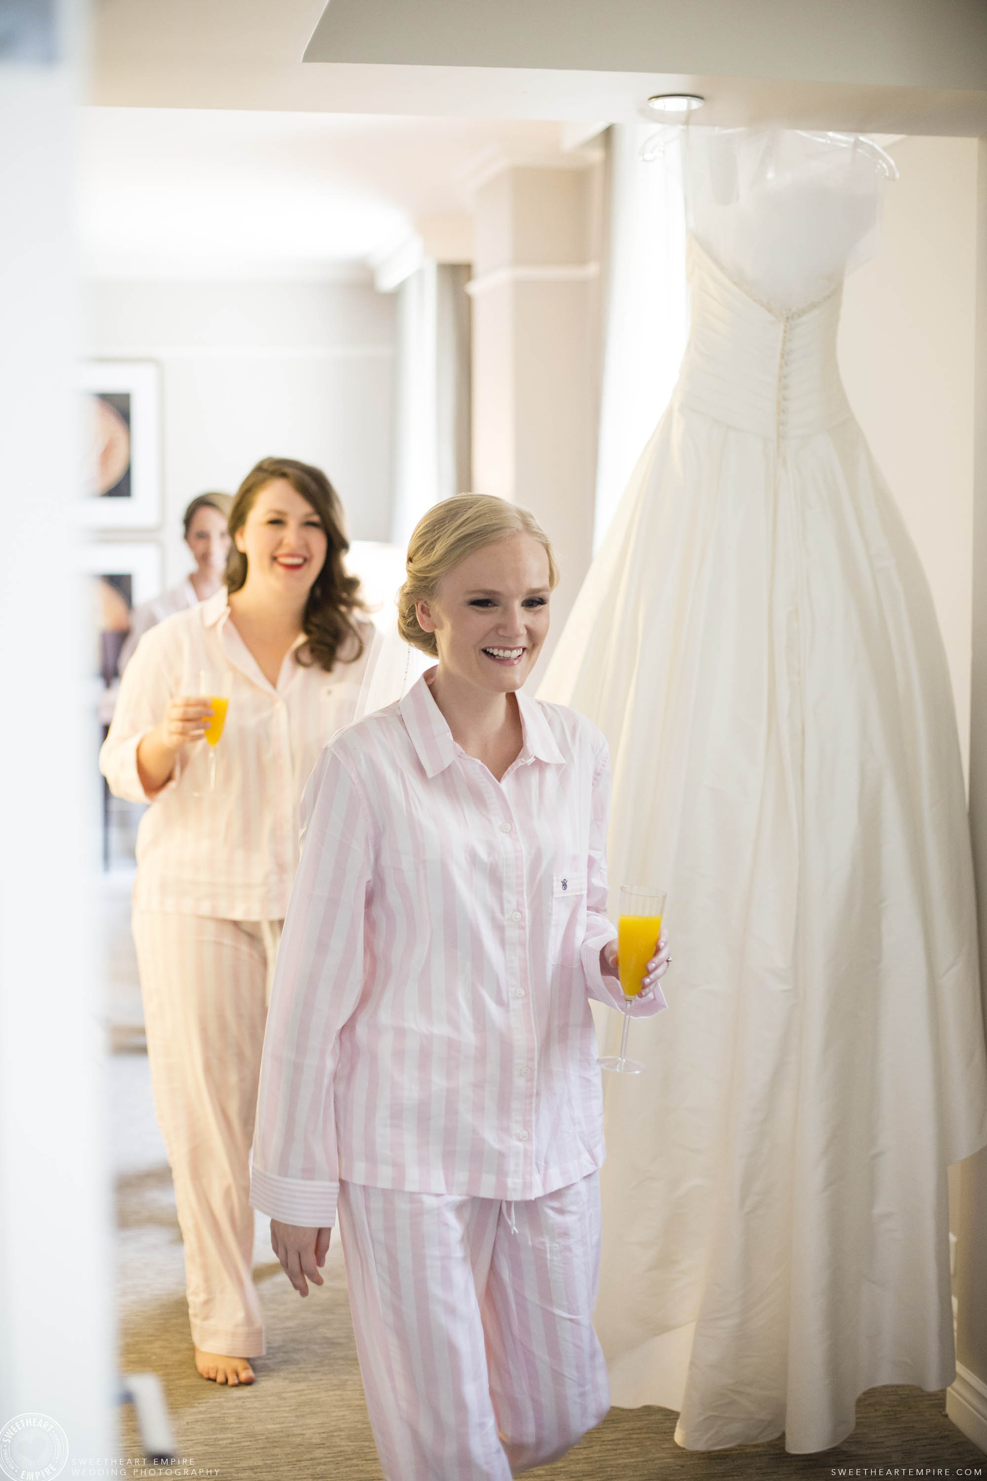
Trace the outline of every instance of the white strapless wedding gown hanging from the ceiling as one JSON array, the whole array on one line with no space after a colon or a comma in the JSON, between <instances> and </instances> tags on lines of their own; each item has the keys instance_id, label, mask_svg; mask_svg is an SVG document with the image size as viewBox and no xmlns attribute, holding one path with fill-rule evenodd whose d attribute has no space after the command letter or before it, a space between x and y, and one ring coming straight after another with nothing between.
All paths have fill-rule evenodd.
<instances>
[{"instance_id":1,"label":"white strapless wedding gown hanging from the ceiling","mask_svg":"<svg viewBox=\"0 0 987 1481\"><path fill-rule=\"evenodd\" d=\"M879 178L703 133L681 378L539 693L608 736L614 893L669 892L669 1010L604 1077L613 1401L814 1451L864 1389L954 1376L972 871L932 600L836 369Z\"/></svg>"}]
</instances>

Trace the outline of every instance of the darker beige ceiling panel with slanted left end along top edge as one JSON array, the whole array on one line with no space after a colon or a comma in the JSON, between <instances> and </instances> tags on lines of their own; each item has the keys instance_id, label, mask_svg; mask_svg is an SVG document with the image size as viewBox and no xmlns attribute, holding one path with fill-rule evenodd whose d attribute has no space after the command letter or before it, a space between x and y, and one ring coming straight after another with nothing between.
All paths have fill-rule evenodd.
<instances>
[{"instance_id":1,"label":"darker beige ceiling panel with slanted left end along top edge","mask_svg":"<svg viewBox=\"0 0 987 1481\"><path fill-rule=\"evenodd\" d=\"M984 0L329 0L306 62L987 89Z\"/></svg>"}]
</instances>

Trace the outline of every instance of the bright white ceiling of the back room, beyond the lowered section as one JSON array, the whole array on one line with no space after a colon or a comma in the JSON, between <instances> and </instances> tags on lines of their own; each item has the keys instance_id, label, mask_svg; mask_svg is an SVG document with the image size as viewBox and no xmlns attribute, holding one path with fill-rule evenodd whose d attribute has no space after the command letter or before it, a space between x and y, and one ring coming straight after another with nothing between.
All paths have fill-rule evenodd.
<instances>
[{"instance_id":1,"label":"bright white ceiling of the back room, beyond the lowered section","mask_svg":"<svg viewBox=\"0 0 987 1481\"><path fill-rule=\"evenodd\" d=\"M352 277L497 161L556 158L559 124L90 107L78 154L92 277Z\"/></svg>"}]
</instances>

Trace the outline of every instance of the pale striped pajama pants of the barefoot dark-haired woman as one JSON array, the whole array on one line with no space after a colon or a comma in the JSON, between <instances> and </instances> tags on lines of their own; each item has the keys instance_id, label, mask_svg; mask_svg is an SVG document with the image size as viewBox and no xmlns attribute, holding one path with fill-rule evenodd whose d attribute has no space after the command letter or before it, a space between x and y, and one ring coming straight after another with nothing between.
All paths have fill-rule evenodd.
<instances>
[{"instance_id":1,"label":"pale striped pajama pants of the barefoot dark-haired woman","mask_svg":"<svg viewBox=\"0 0 987 1481\"><path fill-rule=\"evenodd\" d=\"M281 921L135 911L154 1109L185 1244L192 1342L256 1358L250 1143Z\"/></svg>"}]
</instances>

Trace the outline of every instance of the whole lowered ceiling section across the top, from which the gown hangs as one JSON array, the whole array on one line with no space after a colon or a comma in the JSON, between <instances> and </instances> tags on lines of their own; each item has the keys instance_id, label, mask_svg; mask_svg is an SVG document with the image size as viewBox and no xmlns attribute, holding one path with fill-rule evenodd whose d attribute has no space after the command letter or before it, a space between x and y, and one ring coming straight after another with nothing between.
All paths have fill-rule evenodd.
<instances>
[{"instance_id":1,"label":"whole lowered ceiling section across the top, from which the gown hangs","mask_svg":"<svg viewBox=\"0 0 987 1481\"><path fill-rule=\"evenodd\" d=\"M693 90L710 123L987 132L984 0L96 0L95 22L108 105L619 121Z\"/></svg>"}]
</instances>

